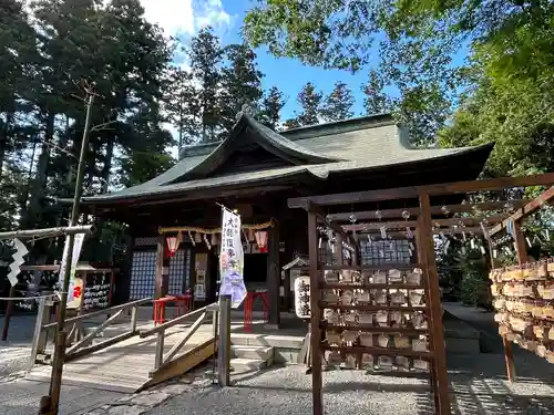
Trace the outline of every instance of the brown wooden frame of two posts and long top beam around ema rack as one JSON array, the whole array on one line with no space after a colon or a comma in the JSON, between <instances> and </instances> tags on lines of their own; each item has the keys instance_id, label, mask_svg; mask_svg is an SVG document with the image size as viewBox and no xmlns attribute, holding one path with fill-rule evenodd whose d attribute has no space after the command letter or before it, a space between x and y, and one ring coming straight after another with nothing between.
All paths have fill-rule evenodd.
<instances>
[{"instance_id":1,"label":"brown wooden frame of two posts and long top beam around ema rack","mask_svg":"<svg viewBox=\"0 0 554 415\"><path fill-rule=\"evenodd\" d=\"M352 207L356 204L365 203L379 203L379 201L390 201L390 200L403 200L404 203L409 199L418 199L419 208L412 209L411 215L417 216L417 232L416 238L418 242L418 264L423 273L423 286L425 289L428 307L425 309L427 315L429 318L429 353L427 357L430 359L430 380L431 386L434 395L435 413L439 415L449 415L451 413L450 400L449 400L449 381L447 372L447 362L444 353L444 339L443 339L443 328L442 328L442 310L440 300L440 288L439 288L439 276L435 263L434 253L434 240L433 240L433 218L432 215L441 210L441 207L431 206L431 197L454 195L454 194L468 194L476 191L493 191L503 190L505 188L512 187L527 187L527 186L548 186L554 183L554 173L548 173L544 175L536 176L525 176L525 177L504 177L489 180L471 180L471 181L459 181L451 184L440 184L431 186L413 186L403 188L392 188L392 189L379 189L379 190L368 190L368 191L357 191L347 194L334 194L334 195L320 195L320 196L308 196L300 198L291 198L288 200L288 206L290 208L302 208L308 214L308 238L309 238L309 273L310 273L310 305L311 305L311 355L312 355L312 401L314 401L314 415L322 415L322 373L321 373L321 349L325 346L322 343L322 329L325 328L325 322L322 321L322 307L326 304L321 302L321 289L326 286L324 284L321 278L321 271L328 269L328 267L321 267L318 263L318 224L328 225L329 219L347 221L351 215L357 218L362 218L363 216L370 218L368 212L341 212L332 214L326 216L325 209L329 207L336 207L340 205L349 205ZM525 201L517 201L517 205L525 207ZM490 207L494 209L494 204ZM437 210L439 209L439 210ZM465 207L460 207L460 209L466 209ZM381 218L394 218L401 215L404 209L396 209L396 212L388 211L387 216L382 215ZM470 209L471 210L471 209ZM525 210L525 208L523 208ZM459 210L468 211L468 210ZM400 215L398 215L400 214ZM397 216L394 216L397 215ZM375 217L375 212L373 212ZM499 224L496 227L501 227L504 224L504 218L496 218ZM413 224L411 224L413 225ZM481 229L486 230L483 222L481 222ZM494 230L494 228L493 228ZM489 231L486 231L489 234ZM490 239L489 239L490 242ZM491 246L489 246L491 247ZM361 267L356 264L355 267L335 267L335 269L383 269L384 267ZM381 309L383 309L381 307ZM382 329L377 329L377 332ZM394 329L399 332L398 329ZM509 369L509 378L514 380L513 371L513 357L511 356L511 345L504 341L506 347L506 366ZM371 351L370 351L371 352ZM381 353L379 351L377 353ZM513 374L513 375L512 375Z\"/></svg>"}]
</instances>

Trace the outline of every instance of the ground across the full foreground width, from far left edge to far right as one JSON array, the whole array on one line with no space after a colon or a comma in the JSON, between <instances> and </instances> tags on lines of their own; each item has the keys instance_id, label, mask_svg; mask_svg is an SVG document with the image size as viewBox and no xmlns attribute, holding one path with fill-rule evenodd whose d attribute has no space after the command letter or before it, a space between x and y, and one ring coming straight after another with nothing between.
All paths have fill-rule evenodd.
<instances>
[{"instance_id":1,"label":"ground across the full foreground width, from far left edge to far right","mask_svg":"<svg viewBox=\"0 0 554 415\"><path fill-rule=\"evenodd\" d=\"M445 308L448 305L445 304ZM517 383L505 380L502 345L497 346L492 314L453 307L454 314L485 332L493 341L492 353L449 356L454 415L546 415L554 414L554 365L514 346ZM45 383L34 383L13 374L25 360L21 346L32 334L28 319L19 330L10 330L11 344L0 343L0 414L35 413ZM21 330L23 329L23 330ZM25 330L27 329L27 330ZM12 336L13 333L13 336ZM7 352L10 352L8 356ZM3 367L3 370L2 370ZM309 415L311 376L304 366L273 367L264 372L233 376L233 387L219 388L198 374L184 376L152 391L122 395L84 387L64 386L62 415ZM361 371L324 373L324 404L332 415L427 415L433 414L427 378L368 375Z\"/></svg>"}]
</instances>

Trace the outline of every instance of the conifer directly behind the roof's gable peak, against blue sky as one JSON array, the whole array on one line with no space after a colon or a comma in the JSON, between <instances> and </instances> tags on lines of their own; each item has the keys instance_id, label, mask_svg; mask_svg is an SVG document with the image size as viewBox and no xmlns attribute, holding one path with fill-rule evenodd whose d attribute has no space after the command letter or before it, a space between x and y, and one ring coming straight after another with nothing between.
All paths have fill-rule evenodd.
<instances>
[{"instance_id":1,"label":"conifer directly behind the roof's gable peak, against blue sky","mask_svg":"<svg viewBox=\"0 0 554 415\"><path fill-rule=\"evenodd\" d=\"M246 44L225 48L227 64L222 71L219 93L223 136L236 123L236 115L244 105L257 107L263 95L263 74L257 68L256 53Z\"/></svg>"}]
</instances>

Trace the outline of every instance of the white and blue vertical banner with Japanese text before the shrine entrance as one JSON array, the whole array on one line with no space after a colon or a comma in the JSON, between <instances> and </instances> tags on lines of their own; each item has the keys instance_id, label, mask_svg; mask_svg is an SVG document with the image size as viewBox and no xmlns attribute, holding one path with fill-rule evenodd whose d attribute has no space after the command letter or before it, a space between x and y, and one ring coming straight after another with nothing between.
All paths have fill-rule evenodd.
<instances>
[{"instance_id":1,"label":"white and blue vertical banner with Japanese text before the shrine entrance","mask_svg":"<svg viewBox=\"0 0 554 415\"><path fill-rule=\"evenodd\" d=\"M222 210L222 251L219 255L222 286L219 295L230 295L230 307L237 309L246 298L246 287L243 279L244 252L240 240L240 216L227 209Z\"/></svg>"}]
</instances>

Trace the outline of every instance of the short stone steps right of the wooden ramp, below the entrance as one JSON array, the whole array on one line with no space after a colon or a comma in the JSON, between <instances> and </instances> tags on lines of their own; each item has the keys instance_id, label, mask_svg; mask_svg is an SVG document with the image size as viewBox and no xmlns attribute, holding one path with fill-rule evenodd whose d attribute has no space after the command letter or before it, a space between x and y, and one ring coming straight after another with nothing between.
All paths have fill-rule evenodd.
<instances>
[{"instance_id":1,"label":"short stone steps right of the wooden ramp, below the entrance","mask_svg":"<svg viewBox=\"0 0 554 415\"><path fill-rule=\"evenodd\" d=\"M230 343L233 373L259 371L274 364L274 346L257 336L232 335Z\"/></svg>"}]
</instances>

